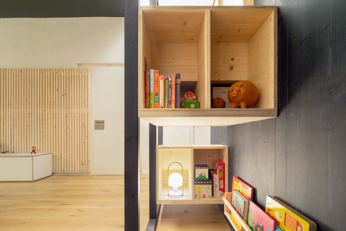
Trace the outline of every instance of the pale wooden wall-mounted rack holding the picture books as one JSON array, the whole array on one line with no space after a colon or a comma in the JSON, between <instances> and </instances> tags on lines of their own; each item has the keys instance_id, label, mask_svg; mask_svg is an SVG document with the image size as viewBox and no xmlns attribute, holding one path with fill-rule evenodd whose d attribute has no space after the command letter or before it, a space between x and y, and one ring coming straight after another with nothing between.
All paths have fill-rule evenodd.
<instances>
[{"instance_id":1,"label":"pale wooden wall-mounted rack holding the picture books","mask_svg":"<svg viewBox=\"0 0 346 231\"><path fill-rule=\"evenodd\" d=\"M233 228L235 230L252 231L232 206L232 193L225 193L225 197L223 198L223 200L225 202L225 216L227 217Z\"/></svg>"}]
</instances>

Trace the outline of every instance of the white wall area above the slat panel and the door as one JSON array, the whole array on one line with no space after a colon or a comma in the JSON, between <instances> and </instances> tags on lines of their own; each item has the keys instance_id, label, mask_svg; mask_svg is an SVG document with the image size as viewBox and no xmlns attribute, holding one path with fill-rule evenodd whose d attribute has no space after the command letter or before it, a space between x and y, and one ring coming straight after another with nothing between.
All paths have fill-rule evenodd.
<instances>
[{"instance_id":1,"label":"white wall area above the slat panel and the door","mask_svg":"<svg viewBox=\"0 0 346 231\"><path fill-rule=\"evenodd\" d=\"M1 68L124 63L124 18L0 18Z\"/></svg>"}]
</instances>

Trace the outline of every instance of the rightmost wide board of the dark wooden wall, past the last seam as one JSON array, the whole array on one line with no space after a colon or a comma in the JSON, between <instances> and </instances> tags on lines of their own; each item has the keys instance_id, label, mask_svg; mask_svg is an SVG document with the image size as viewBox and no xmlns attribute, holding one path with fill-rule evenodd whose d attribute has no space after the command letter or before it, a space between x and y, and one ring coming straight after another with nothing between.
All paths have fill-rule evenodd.
<instances>
[{"instance_id":1,"label":"rightmost wide board of the dark wooden wall, past the last seam","mask_svg":"<svg viewBox=\"0 0 346 231\"><path fill-rule=\"evenodd\" d=\"M281 2L287 11L287 202L343 230L346 175L345 1Z\"/></svg>"}]
</instances>

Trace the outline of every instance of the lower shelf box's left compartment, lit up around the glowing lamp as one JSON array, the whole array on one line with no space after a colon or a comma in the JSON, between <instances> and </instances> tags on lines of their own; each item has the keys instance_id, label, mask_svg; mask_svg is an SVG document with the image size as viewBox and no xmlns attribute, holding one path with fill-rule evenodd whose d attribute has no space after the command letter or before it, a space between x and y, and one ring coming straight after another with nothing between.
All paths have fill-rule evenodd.
<instances>
[{"instance_id":1,"label":"lower shelf box's left compartment, lit up around the glowing lamp","mask_svg":"<svg viewBox=\"0 0 346 231\"><path fill-rule=\"evenodd\" d=\"M168 196L168 177L173 172L177 172L180 175L181 167L179 164L172 164L169 172L168 167L171 163L178 162L183 167L183 196L179 198L172 198ZM192 170L192 153L189 148L158 148L157 149L157 204L171 204L174 201L191 200L192 199L192 182L193 177ZM182 190L182 187L179 187Z\"/></svg>"}]
</instances>

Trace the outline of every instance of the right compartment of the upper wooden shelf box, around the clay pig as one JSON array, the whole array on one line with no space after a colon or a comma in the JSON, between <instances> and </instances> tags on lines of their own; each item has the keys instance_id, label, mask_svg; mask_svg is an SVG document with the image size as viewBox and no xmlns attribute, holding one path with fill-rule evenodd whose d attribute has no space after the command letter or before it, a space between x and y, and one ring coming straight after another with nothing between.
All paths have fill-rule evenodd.
<instances>
[{"instance_id":1,"label":"right compartment of the upper wooden shelf box, around the clay pig","mask_svg":"<svg viewBox=\"0 0 346 231\"><path fill-rule=\"evenodd\" d=\"M253 82L259 91L254 108L276 108L275 9L215 9L210 12L211 85Z\"/></svg>"}]
</instances>

